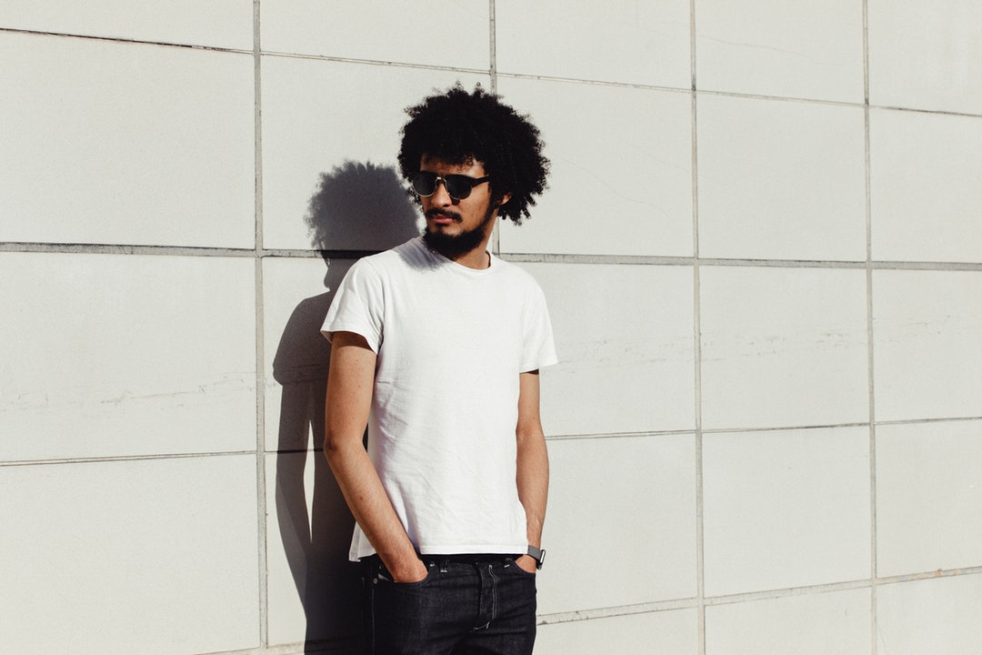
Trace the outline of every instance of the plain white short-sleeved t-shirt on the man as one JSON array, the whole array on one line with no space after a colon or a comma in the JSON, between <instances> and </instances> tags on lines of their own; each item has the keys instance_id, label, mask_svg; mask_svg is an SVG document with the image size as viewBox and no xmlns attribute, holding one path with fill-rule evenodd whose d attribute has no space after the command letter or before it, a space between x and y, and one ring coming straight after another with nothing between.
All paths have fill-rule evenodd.
<instances>
[{"instance_id":1,"label":"plain white short-sleeved t-shirt on the man","mask_svg":"<svg viewBox=\"0 0 982 655\"><path fill-rule=\"evenodd\" d=\"M524 553L518 374L556 362L538 284L491 255L474 270L421 238L360 259L322 332L378 355L368 455L420 553ZM358 525L351 559L374 553Z\"/></svg>"}]
</instances>

